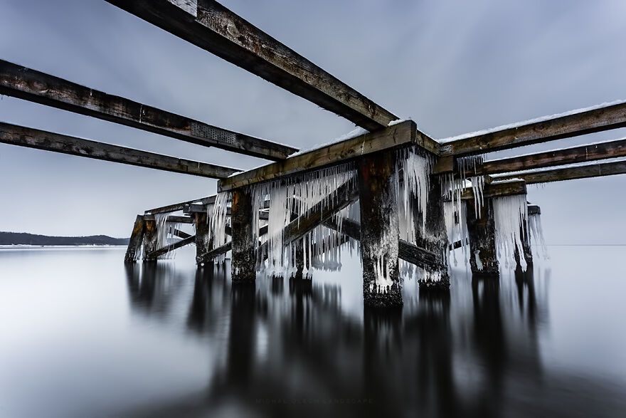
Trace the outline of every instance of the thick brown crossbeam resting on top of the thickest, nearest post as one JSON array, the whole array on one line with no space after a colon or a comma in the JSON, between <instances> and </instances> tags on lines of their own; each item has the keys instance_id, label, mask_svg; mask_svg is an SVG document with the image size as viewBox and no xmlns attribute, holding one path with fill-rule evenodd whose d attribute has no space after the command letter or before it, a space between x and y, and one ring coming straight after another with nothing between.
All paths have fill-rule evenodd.
<instances>
[{"instance_id":1,"label":"thick brown crossbeam resting on top of the thickest, nearest post","mask_svg":"<svg viewBox=\"0 0 626 418\"><path fill-rule=\"evenodd\" d=\"M265 165L247 172L235 174L218 183L218 190L236 189L248 184L275 179L288 174L304 172L332 164L339 164L361 155L391 149L401 145L425 144L426 136L418 131L415 122L407 120L384 130L334 142L331 145L303 152L279 162Z\"/></svg>"}]
</instances>

